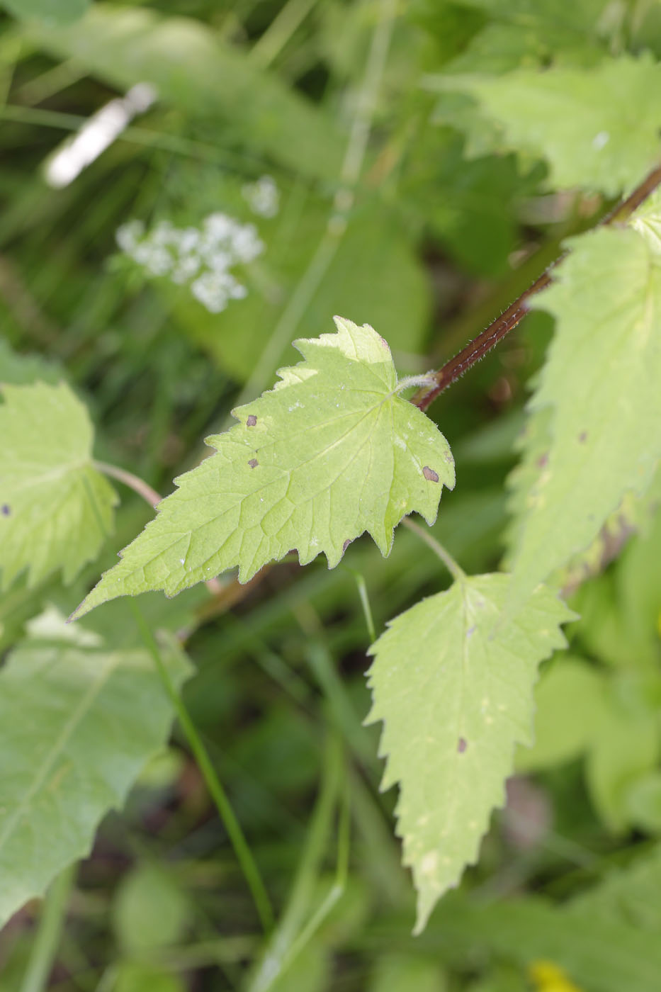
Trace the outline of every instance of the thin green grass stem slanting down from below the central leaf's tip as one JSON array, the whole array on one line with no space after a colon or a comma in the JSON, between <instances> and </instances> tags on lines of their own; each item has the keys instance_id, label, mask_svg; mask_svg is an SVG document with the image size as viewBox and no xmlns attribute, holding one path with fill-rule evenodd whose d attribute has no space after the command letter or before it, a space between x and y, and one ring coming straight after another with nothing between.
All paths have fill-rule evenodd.
<instances>
[{"instance_id":1,"label":"thin green grass stem slanting down from below the central leaf's tip","mask_svg":"<svg viewBox=\"0 0 661 992\"><path fill-rule=\"evenodd\" d=\"M145 622L145 619L137 604L134 603L133 600L129 600L129 605L133 610L136 623L140 629L145 645L154 659L161 682L163 682L165 690L173 704L174 710L177 713L180 726L184 731L191 751L193 752L196 762L198 763L198 769L202 774L204 782L206 783L206 788L209 791L209 795L211 796L211 799L218 810L220 819L222 820L227 831L227 836L229 837L236 858L241 866L243 876L248 884L250 892L252 893L252 898L254 900L262 927L266 932L268 932L273 927L273 909L262 881L262 877L259 873L257 863L252 856L248 842L243 836L243 831L241 830L239 821L234 814L234 810L230 806L229 800L225 795L225 791L220 784L220 780L215 773L213 765L211 764L208 752L202 743L196 725L191 718L191 714L186 708L184 699L178 692L175 683L170 678L168 669L164 665L163 659L161 658L161 652L159 651L158 645L154 639L154 635L152 634L148 624Z\"/></svg>"}]
</instances>

